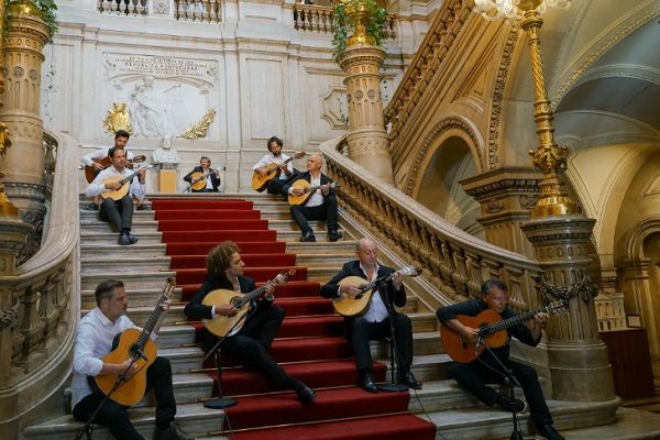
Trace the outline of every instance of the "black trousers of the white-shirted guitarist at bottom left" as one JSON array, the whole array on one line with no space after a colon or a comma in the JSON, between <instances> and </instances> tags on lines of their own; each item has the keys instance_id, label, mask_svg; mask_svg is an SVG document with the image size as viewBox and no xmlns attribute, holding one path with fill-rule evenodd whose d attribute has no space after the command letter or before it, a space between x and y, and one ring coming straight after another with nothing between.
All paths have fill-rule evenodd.
<instances>
[{"instance_id":1,"label":"black trousers of the white-shirted guitarist at bottom left","mask_svg":"<svg viewBox=\"0 0 660 440\"><path fill-rule=\"evenodd\" d=\"M165 358L156 358L147 369L146 389L150 388L153 388L156 395L156 426L167 428L176 415L176 402L172 389L172 366ZM86 396L74 407L74 417L87 421L102 399L103 395L100 392ZM118 440L142 440L143 437L135 431L127 409L125 406L108 399L97 415L96 422L107 427Z\"/></svg>"}]
</instances>

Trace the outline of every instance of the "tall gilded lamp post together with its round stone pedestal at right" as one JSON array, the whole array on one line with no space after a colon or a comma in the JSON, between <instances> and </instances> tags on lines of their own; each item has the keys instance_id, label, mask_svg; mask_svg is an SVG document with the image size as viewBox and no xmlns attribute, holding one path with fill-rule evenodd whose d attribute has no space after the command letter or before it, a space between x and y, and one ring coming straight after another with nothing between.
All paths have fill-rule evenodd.
<instances>
[{"instance_id":1,"label":"tall gilded lamp post together with its round stone pedestal at right","mask_svg":"<svg viewBox=\"0 0 660 440\"><path fill-rule=\"evenodd\" d=\"M554 142L553 110L548 99L538 31L542 20L536 1L528 2L521 28L527 31L535 84L535 121L539 145L530 151L543 173L531 220L521 226L543 268L541 292L546 301L563 299L570 312L548 324L548 358L554 398L614 399L607 348L598 336L593 298L598 288L591 242L594 219L587 219L569 197L563 182L569 151ZM535 9L532 9L532 7Z\"/></svg>"}]
</instances>

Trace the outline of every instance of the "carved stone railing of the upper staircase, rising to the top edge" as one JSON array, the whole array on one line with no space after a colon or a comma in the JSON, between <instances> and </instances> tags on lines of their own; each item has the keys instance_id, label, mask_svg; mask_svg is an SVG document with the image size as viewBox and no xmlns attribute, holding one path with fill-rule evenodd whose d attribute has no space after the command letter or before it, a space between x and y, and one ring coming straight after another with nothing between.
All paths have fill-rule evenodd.
<instances>
[{"instance_id":1,"label":"carved stone railing of the upper staircase, rising to the top edge","mask_svg":"<svg viewBox=\"0 0 660 440\"><path fill-rule=\"evenodd\" d=\"M447 0L442 3L410 66L404 74L402 82L385 109L385 123L392 123L391 144L394 144L403 125L413 114L419 98L470 16L473 6L473 0Z\"/></svg>"}]
</instances>

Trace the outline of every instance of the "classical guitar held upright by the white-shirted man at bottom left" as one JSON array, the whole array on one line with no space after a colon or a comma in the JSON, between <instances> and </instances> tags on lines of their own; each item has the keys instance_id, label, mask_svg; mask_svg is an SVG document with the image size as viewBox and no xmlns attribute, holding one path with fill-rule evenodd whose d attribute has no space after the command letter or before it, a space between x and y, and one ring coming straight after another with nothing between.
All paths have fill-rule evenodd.
<instances>
[{"instance_id":1,"label":"classical guitar held upright by the white-shirted man at bottom left","mask_svg":"<svg viewBox=\"0 0 660 440\"><path fill-rule=\"evenodd\" d=\"M110 398L120 405L133 406L144 396L146 391L146 369L156 360L157 351L156 344L151 340L150 336L158 322L161 315L165 312L163 302L169 299L174 287L174 282L170 278L167 279L158 297L158 302L146 320L142 331L139 329L127 329L118 334L112 342L112 351L102 359L103 362L111 364L121 364L132 359L138 366L136 373L130 380L122 382L110 395ZM114 388L118 375L102 374L89 378L94 380L89 381L92 389L100 389L105 395L108 395Z\"/></svg>"}]
</instances>

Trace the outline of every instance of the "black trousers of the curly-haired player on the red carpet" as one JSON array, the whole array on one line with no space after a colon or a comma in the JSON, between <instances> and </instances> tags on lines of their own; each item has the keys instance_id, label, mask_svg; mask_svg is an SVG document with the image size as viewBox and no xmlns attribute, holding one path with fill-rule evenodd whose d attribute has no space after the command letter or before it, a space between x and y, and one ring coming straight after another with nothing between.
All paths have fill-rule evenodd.
<instances>
[{"instance_id":1,"label":"black trousers of the curly-haired player on the red carpet","mask_svg":"<svg viewBox=\"0 0 660 440\"><path fill-rule=\"evenodd\" d=\"M276 387L295 387L299 382L282 370L268 353L283 320L284 309L280 307L257 308L237 334L224 339L221 353L263 372ZM205 352L211 348L205 346Z\"/></svg>"}]
</instances>

